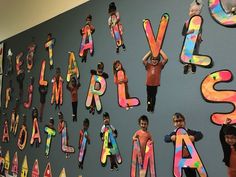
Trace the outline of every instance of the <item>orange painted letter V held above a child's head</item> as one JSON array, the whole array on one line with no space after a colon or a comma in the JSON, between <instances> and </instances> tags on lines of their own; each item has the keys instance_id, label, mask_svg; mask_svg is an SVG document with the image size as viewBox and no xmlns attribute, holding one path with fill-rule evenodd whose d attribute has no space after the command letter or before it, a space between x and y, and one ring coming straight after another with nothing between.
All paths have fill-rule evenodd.
<instances>
[{"instance_id":1,"label":"orange painted letter V held above a child's head","mask_svg":"<svg viewBox=\"0 0 236 177\"><path fill-rule=\"evenodd\" d=\"M154 58L158 57L159 52L162 48L168 22L169 22L169 14L165 13L161 17L161 22L157 32L157 37L155 38L151 21L149 19L143 20L143 28L148 40L150 50L152 52L152 56Z\"/></svg>"}]
</instances>

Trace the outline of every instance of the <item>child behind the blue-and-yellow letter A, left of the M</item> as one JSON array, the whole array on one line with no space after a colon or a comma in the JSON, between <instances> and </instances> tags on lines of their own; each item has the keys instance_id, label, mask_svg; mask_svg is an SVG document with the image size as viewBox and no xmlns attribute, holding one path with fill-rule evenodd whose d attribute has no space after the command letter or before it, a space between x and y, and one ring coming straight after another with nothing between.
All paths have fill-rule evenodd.
<instances>
[{"instance_id":1,"label":"child behind the blue-and-yellow letter A, left of the M","mask_svg":"<svg viewBox=\"0 0 236 177\"><path fill-rule=\"evenodd\" d=\"M100 137L102 139L102 141L104 141L104 133L105 133L105 129L106 128L111 128L112 130L112 133L113 133L113 136L116 138L117 135L118 135L118 132L117 130L110 124L110 115L108 112L104 112L103 113L103 125L102 125L102 128L101 128L101 132L100 132ZM110 141L110 138L108 139L108 147L109 148L112 148L112 143ZM118 165L116 163L116 156L115 155L109 155L110 157L110 162L111 162L111 167L110 169L111 170L118 170Z\"/></svg>"}]
</instances>

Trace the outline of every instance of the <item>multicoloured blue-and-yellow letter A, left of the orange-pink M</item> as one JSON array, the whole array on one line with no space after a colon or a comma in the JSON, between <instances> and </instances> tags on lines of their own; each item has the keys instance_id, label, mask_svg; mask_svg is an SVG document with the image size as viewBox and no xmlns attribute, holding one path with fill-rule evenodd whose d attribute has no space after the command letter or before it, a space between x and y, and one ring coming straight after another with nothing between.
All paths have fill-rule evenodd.
<instances>
[{"instance_id":1,"label":"multicoloured blue-and-yellow letter A, left of the orange-pink M","mask_svg":"<svg viewBox=\"0 0 236 177\"><path fill-rule=\"evenodd\" d=\"M111 143L112 147L108 146L109 142ZM103 140L102 153L101 153L102 166L106 165L107 157L110 155L115 155L115 158L118 164L122 163L122 158L120 155L118 144L116 142L116 139L113 136L112 129L106 127L104 131L104 140Z\"/></svg>"}]
</instances>

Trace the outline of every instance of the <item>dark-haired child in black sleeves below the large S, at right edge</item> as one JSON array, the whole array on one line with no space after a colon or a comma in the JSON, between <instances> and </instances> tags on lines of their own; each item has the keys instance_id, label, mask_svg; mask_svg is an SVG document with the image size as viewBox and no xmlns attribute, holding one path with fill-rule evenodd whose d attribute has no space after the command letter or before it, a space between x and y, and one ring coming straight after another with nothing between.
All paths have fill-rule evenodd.
<instances>
[{"instance_id":1,"label":"dark-haired child in black sleeves below the large S, at right edge","mask_svg":"<svg viewBox=\"0 0 236 177\"><path fill-rule=\"evenodd\" d=\"M227 118L220 130L220 142L224 152L223 162L228 167L228 176L236 176L236 127Z\"/></svg>"}]
</instances>

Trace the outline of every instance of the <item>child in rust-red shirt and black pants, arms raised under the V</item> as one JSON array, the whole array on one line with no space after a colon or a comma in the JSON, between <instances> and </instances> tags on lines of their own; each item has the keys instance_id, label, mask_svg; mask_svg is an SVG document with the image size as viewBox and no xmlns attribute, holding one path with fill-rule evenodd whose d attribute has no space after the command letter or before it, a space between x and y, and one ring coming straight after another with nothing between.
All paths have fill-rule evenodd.
<instances>
[{"instance_id":1,"label":"child in rust-red shirt and black pants, arms raised under the V","mask_svg":"<svg viewBox=\"0 0 236 177\"><path fill-rule=\"evenodd\" d=\"M162 57L162 60L161 60ZM148 59L150 58L150 62ZM154 112L156 103L157 88L160 86L161 71L168 61L167 55L163 50L160 50L158 57L154 58L151 51L143 57L143 64L147 71L146 86L147 86L147 111Z\"/></svg>"}]
</instances>

